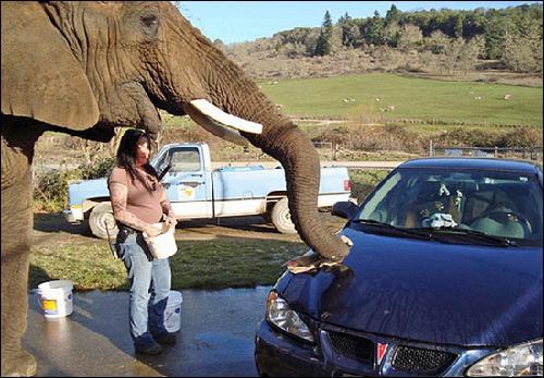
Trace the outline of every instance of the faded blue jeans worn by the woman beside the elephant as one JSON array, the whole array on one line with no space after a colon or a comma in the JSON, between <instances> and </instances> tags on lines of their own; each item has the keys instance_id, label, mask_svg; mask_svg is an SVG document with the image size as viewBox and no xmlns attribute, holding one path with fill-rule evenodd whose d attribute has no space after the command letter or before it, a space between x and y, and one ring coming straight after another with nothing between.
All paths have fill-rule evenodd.
<instances>
[{"instance_id":1,"label":"faded blue jeans worn by the woman beside the elephant","mask_svg":"<svg viewBox=\"0 0 544 378\"><path fill-rule=\"evenodd\" d=\"M131 283L131 336L136 346L154 343L153 334L161 336L164 328L164 309L170 292L170 264L168 258L148 259L146 241L141 234L129 234L119 243L120 257L126 267Z\"/></svg>"}]
</instances>

